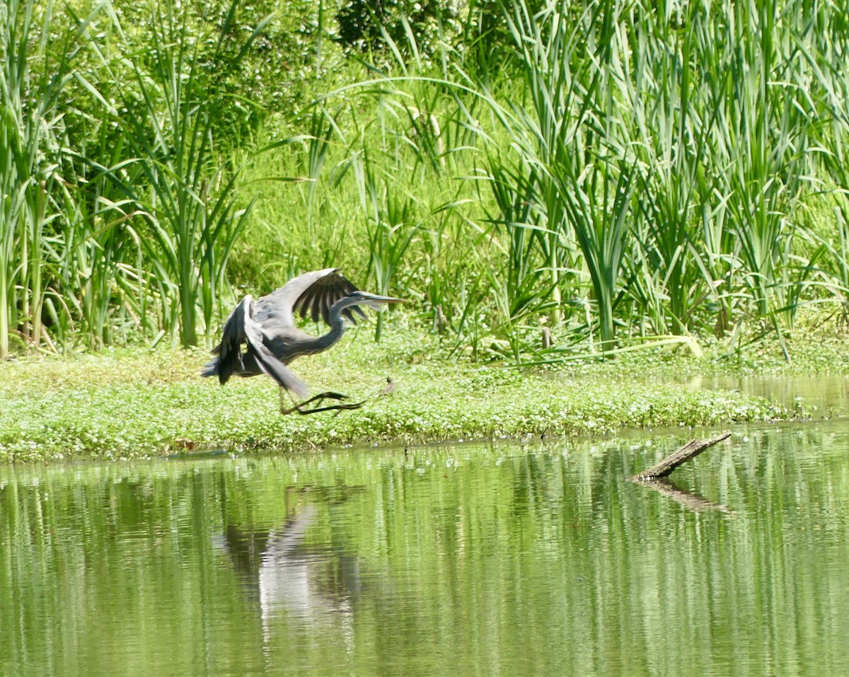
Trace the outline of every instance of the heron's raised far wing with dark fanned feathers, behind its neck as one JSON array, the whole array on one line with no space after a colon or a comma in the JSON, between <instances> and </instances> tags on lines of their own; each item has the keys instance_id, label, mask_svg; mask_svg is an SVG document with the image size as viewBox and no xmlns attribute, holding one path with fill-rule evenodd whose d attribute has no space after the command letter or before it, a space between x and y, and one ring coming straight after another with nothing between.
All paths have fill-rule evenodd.
<instances>
[{"instance_id":1,"label":"heron's raised far wing with dark fanned feathers, behind its neck","mask_svg":"<svg viewBox=\"0 0 849 677\"><path fill-rule=\"evenodd\" d=\"M301 317L311 316L312 322L318 322L321 317L329 324L330 306L355 291L357 288L340 273L339 268L306 272L271 294L257 299L254 316L261 324L274 318L281 326L294 327L294 314L299 312ZM351 322L356 322L355 314L365 317L365 313L356 305L342 311L342 315Z\"/></svg>"}]
</instances>

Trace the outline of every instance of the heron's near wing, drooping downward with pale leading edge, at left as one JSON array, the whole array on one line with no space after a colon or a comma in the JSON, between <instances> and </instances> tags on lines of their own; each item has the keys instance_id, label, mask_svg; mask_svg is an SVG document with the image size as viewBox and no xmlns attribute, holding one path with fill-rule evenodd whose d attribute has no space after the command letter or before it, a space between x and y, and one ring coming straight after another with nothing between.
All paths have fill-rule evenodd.
<instances>
[{"instance_id":1,"label":"heron's near wing, drooping downward with pale leading edge, at left","mask_svg":"<svg viewBox=\"0 0 849 677\"><path fill-rule=\"evenodd\" d=\"M249 371L245 369L245 355L242 353L242 344L247 344L248 352L261 372L266 373L285 389L306 397L309 393L306 383L296 377L288 366L279 361L271 350L268 350L262 335L262 327L251 317L252 304L253 299L245 296L224 323L221 344L214 351L218 354L219 382L227 383L228 378L237 370Z\"/></svg>"}]
</instances>

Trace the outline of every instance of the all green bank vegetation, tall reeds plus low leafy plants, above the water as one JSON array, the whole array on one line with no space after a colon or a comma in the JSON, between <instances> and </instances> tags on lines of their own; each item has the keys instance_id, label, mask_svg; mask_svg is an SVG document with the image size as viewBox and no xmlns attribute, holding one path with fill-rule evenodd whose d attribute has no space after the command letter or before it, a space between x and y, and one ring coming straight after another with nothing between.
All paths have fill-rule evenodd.
<instances>
[{"instance_id":1,"label":"all green bank vegetation, tall reeds plus low leafy plants, above the water","mask_svg":"<svg viewBox=\"0 0 849 677\"><path fill-rule=\"evenodd\" d=\"M849 371L840 7L379 4L8 0L0 458L774 420L674 381ZM395 393L201 381L329 266L411 303L295 371Z\"/></svg>"}]
</instances>

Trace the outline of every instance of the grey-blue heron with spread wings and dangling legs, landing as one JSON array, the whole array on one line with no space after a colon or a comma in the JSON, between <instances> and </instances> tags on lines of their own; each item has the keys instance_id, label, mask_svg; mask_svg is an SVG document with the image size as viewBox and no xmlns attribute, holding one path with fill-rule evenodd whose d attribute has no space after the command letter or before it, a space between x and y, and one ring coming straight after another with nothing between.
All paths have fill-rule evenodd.
<instances>
[{"instance_id":1,"label":"grey-blue heron with spread wings and dangling legs, landing","mask_svg":"<svg viewBox=\"0 0 849 677\"><path fill-rule=\"evenodd\" d=\"M223 385L233 375L267 374L281 388L304 398L308 394L306 383L286 365L295 357L315 355L335 344L345 332L346 321L356 323L355 316L365 317L361 305L377 311L382 304L403 302L404 299L360 291L341 275L338 268L304 273L271 294L256 300L245 296L239 301L224 323L221 343L212 349L216 358L204 366L201 375L217 376ZM312 316L313 322L318 322L321 317L330 331L323 336L301 331L295 326L295 312L300 312L301 317ZM324 399L343 400L345 395L322 393L284 409L281 393L281 412L308 414L363 406L360 402L307 410L302 408L310 402Z\"/></svg>"}]
</instances>

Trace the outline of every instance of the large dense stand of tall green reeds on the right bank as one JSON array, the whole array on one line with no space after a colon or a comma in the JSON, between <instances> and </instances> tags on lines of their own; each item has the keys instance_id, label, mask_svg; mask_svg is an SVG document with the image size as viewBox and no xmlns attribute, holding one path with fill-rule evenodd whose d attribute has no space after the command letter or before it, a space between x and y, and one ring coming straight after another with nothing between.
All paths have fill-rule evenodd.
<instances>
[{"instance_id":1,"label":"large dense stand of tall green reeds on the right bank","mask_svg":"<svg viewBox=\"0 0 849 677\"><path fill-rule=\"evenodd\" d=\"M626 302L659 333L689 331L706 301L717 327L791 319L822 255L801 260L795 218L818 115L801 4L514 2L505 18L522 88L505 103L479 87L533 167L515 177L547 217L527 255L548 261L552 298L571 236L603 346Z\"/></svg>"}]
</instances>

